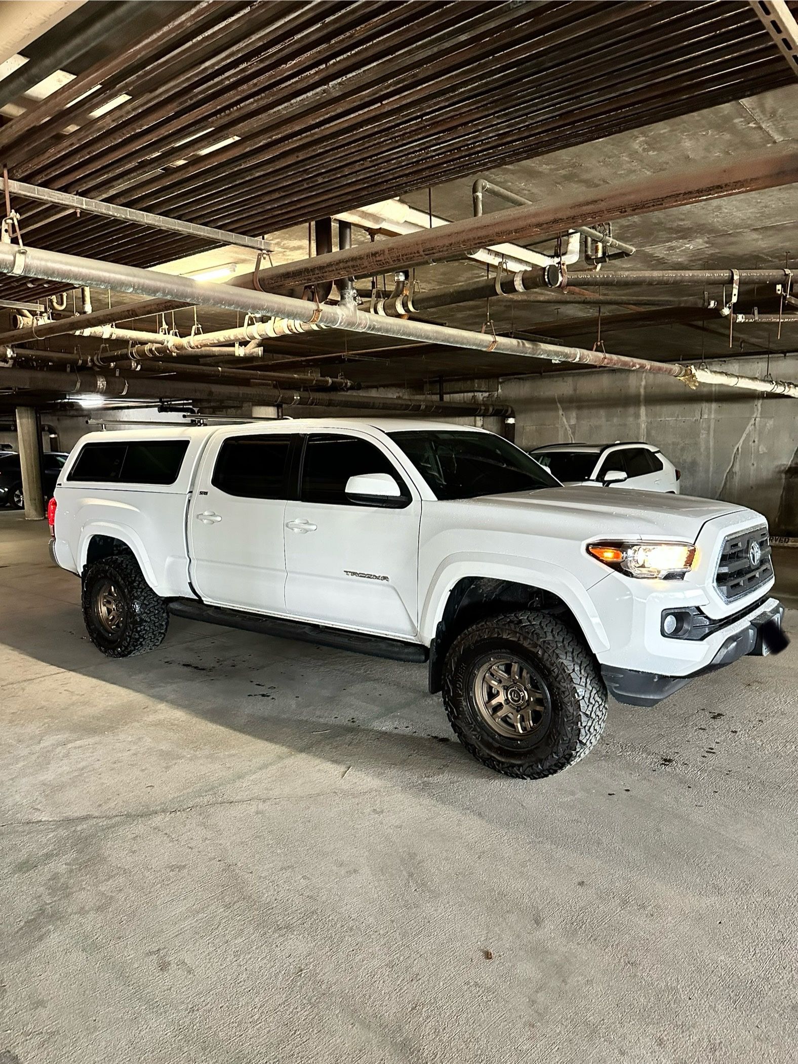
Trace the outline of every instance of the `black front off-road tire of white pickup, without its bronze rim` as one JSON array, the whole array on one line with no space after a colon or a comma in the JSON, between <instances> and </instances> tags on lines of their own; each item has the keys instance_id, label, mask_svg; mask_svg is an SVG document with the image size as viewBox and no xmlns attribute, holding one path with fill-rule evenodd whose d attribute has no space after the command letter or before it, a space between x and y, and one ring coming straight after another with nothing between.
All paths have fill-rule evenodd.
<instances>
[{"instance_id":1,"label":"black front off-road tire of white pickup, without its bronze rim","mask_svg":"<svg viewBox=\"0 0 798 1064\"><path fill-rule=\"evenodd\" d=\"M505 737L477 705L476 667L486 654L517 655L548 688L548 722L528 737ZM444 666L444 704L463 746L494 771L543 779L575 765L595 746L606 720L606 688L596 659L556 617L536 611L492 617L452 643Z\"/></svg>"}]
</instances>

